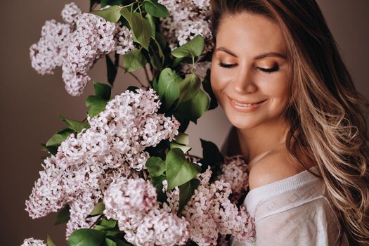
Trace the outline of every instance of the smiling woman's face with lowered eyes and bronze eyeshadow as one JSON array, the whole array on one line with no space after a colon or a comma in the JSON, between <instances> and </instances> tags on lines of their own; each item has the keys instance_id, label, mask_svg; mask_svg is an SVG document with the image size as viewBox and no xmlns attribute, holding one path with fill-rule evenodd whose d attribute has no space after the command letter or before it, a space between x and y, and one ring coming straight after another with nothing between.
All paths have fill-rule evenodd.
<instances>
[{"instance_id":1,"label":"smiling woman's face with lowered eyes and bronze eyeshadow","mask_svg":"<svg viewBox=\"0 0 369 246\"><path fill-rule=\"evenodd\" d=\"M251 13L222 18L211 83L231 124L250 129L280 117L289 99L289 72L285 40L275 22Z\"/></svg>"}]
</instances>

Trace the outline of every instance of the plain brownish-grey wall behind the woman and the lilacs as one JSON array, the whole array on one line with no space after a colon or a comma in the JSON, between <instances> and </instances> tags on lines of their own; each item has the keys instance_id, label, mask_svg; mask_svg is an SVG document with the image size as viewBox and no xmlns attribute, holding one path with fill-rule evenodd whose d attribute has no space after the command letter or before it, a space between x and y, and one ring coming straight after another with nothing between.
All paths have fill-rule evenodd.
<instances>
[{"instance_id":1,"label":"plain brownish-grey wall behind the woman and the lilacs","mask_svg":"<svg viewBox=\"0 0 369 246\"><path fill-rule=\"evenodd\" d=\"M303 0L302 0L303 1ZM57 114L83 119L84 100L92 93L89 84L81 97L69 96L60 77L40 76L32 69L28 48L39 39L45 20L61 21L60 11L70 1L4 1L1 11L1 207L0 245L20 245L24 238L46 239L51 235L56 245L66 245L64 226L53 226L55 214L32 220L25 212L25 199L39 176L44 155L41 145L64 125ZM84 11L89 1L75 1ZM369 1L318 0L332 33L342 51L358 91L369 98ZM105 61L91 70L91 77L106 82ZM141 75L140 75L141 76ZM113 94L135 84L122 71ZM191 145L200 146L198 138L221 145L230 125L221 110L202 117L198 126L190 126ZM195 152L195 154L200 154Z\"/></svg>"}]
</instances>

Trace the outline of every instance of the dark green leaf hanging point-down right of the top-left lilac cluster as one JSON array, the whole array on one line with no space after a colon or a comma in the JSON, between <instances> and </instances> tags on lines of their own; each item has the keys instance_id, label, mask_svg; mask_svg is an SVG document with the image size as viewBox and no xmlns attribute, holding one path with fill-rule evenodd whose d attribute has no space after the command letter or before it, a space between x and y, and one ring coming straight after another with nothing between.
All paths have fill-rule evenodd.
<instances>
[{"instance_id":1,"label":"dark green leaf hanging point-down right of the top-left lilac cluster","mask_svg":"<svg viewBox=\"0 0 369 246\"><path fill-rule=\"evenodd\" d=\"M149 22L138 13L131 13L127 8L122 8L120 13L129 22L134 37L143 48L148 50L152 30Z\"/></svg>"}]
</instances>

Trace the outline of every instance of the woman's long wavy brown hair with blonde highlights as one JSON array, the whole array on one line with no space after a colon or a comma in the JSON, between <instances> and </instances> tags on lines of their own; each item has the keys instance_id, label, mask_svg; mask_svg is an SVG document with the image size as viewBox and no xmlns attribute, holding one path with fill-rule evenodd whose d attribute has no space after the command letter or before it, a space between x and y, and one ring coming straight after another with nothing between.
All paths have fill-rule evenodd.
<instances>
[{"instance_id":1,"label":"woman's long wavy brown hair with blonde highlights","mask_svg":"<svg viewBox=\"0 0 369 246\"><path fill-rule=\"evenodd\" d=\"M278 23L292 67L286 148L313 160L350 245L369 245L368 101L354 86L314 0L212 0L212 34L224 15L242 11Z\"/></svg>"}]
</instances>

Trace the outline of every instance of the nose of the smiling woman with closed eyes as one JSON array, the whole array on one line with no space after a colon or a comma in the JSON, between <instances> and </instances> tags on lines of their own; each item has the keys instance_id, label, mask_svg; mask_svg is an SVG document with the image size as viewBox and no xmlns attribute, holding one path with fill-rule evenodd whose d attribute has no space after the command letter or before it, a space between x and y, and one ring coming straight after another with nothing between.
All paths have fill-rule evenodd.
<instances>
[{"instance_id":1,"label":"nose of the smiling woman with closed eyes","mask_svg":"<svg viewBox=\"0 0 369 246\"><path fill-rule=\"evenodd\" d=\"M251 67L240 67L238 75L234 80L235 91L240 94L253 93L257 91L257 85L254 82L254 72Z\"/></svg>"}]
</instances>

